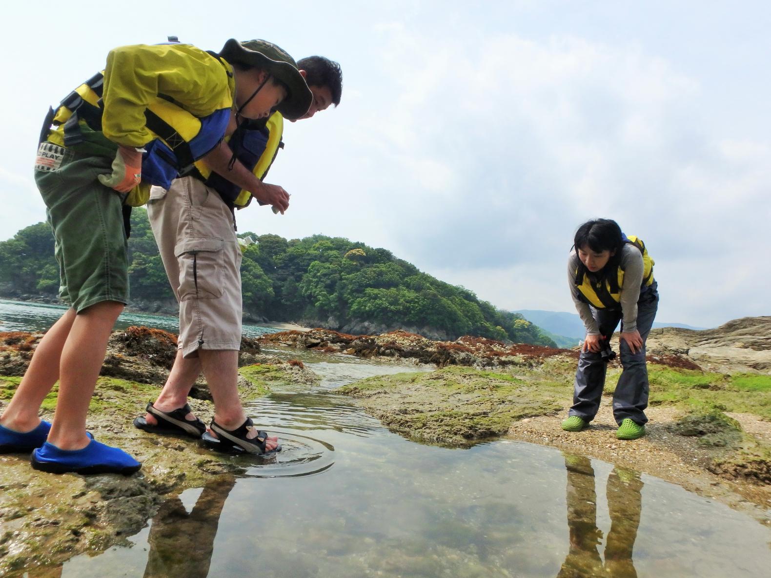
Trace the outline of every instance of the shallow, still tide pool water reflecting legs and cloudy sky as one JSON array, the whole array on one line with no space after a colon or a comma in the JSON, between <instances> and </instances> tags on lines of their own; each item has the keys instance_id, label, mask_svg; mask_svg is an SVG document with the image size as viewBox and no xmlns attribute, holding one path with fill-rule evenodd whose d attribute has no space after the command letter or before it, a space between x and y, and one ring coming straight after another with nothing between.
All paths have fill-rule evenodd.
<instances>
[{"instance_id":1,"label":"shallow, still tide pool water reflecting legs and cloudy sky","mask_svg":"<svg viewBox=\"0 0 771 578\"><path fill-rule=\"evenodd\" d=\"M771 529L745 514L540 445L410 442L330 391L403 366L278 353L322 375L247 408L282 452L227 458L244 472L168 499L132 546L45 576L768 576Z\"/></svg>"}]
</instances>

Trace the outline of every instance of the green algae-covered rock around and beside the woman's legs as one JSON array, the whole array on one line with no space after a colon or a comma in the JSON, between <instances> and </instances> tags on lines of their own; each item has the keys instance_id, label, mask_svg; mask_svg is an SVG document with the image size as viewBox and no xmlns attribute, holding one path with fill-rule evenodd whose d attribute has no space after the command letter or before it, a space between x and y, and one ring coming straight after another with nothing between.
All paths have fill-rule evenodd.
<instances>
[{"instance_id":1,"label":"green algae-covered rock around and beside the woman's legs","mask_svg":"<svg viewBox=\"0 0 771 578\"><path fill-rule=\"evenodd\" d=\"M358 398L367 412L407 439L468 446L506 435L513 423L531 417L549 416L554 421L551 425L559 429L556 414L566 414L571 405L574 371L575 361L564 357L505 369L452 365L433 373L368 378L336 391ZM668 406L683 412L674 422L654 423L653 427L666 428L678 437L699 436L699 465L708 472L737 482L771 482L769 442L744 431L736 419L723 413L743 412L737 415L768 420L771 376L704 373L662 365L650 365L648 371L651 408ZM620 373L617 364L609 366L603 403L610 403ZM527 441L560 446L554 434L544 432L547 435ZM608 438L602 447L615 447L615 443ZM599 448L598 453L598 457L612 459Z\"/></svg>"}]
</instances>

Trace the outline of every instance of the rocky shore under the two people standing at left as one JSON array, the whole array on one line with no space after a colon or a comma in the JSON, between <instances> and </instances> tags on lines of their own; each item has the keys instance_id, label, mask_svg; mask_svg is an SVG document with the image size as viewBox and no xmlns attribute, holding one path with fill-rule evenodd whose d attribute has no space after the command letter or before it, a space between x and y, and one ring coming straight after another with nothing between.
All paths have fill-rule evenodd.
<instances>
[{"instance_id":1,"label":"rocky shore under the two people standing at left","mask_svg":"<svg viewBox=\"0 0 771 578\"><path fill-rule=\"evenodd\" d=\"M42 334L0 333L0 402L12 397ZM32 566L56 566L79 553L98 553L139 531L170 494L200 487L211 476L240 472L248 456L221 455L193 439L149 435L131 425L166 381L177 351L166 331L115 331L96 385L89 431L143 462L139 474L56 476L29 467L29 455L0 455L0 576ZM239 388L248 400L278 385L318 383L299 361L262 355L259 344L242 342ZM54 387L42 406L52 418ZM192 391L190 406L210 422L213 406L205 382Z\"/></svg>"}]
</instances>

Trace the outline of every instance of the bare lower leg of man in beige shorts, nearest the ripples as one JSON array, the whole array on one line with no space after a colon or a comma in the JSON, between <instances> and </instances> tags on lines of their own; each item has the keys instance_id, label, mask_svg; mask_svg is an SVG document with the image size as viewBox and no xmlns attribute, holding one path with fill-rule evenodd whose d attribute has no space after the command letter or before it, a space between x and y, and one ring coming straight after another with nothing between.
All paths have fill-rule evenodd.
<instances>
[{"instance_id":1,"label":"bare lower leg of man in beige shorts, nearest the ripples","mask_svg":"<svg viewBox=\"0 0 771 578\"><path fill-rule=\"evenodd\" d=\"M199 349L198 355L211 397L214 398L214 421L225 429L237 428L246 421L241 399L238 398L238 351ZM257 435L258 430L254 428L247 434L247 439L254 439ZM269 452L278 446L278 438L268 438L266 444Z\"/></svg>"}]
</instances>

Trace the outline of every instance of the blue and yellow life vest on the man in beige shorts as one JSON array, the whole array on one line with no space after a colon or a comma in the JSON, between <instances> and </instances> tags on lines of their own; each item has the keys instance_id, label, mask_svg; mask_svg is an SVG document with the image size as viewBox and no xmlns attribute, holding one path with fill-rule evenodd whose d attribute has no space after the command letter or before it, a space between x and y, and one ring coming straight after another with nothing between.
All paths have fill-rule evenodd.
<instances>
[{"instance_id":1,"label":"blue and yellow life vest on the man in beige shorts","mask_svg":"<svg viewBox=\"0 0 771 578\"><path fill-rule=\"evenodd\" d=\"M284 133L284 117L281 113L273 113L264 122L264 125L256 124L256 121L238 126L231 136L225 137L231 146L236 158L247 167L259 180L263 180L278 150L284 147L281 136ZM252 194L231 183L224 176L214 173L203 161L195 163L200 180L220 193L226 203L232 203L235 207L243 208L251 203Z\"/></svg>"}]
</instances>

